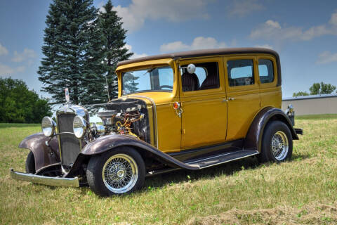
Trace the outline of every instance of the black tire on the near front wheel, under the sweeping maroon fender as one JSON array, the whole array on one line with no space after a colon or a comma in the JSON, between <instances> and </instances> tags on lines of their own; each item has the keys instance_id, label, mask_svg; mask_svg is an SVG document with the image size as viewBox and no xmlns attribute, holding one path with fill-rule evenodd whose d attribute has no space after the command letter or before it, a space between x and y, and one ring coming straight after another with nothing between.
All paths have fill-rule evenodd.
<instances>
[{"instance_id":1,"label":"black tire on the near front wheel, under the sweeping maroon fender","mask_svg":"<svg viewBox=\"0 0 337 225\"><path fill-rule=\"evenodd\" d=\"M107 181L112 181L111 179L112 176L114 176L116 179L119 179L120 176L118 172L121 172L121 171L124 171L122 173L123 176L121 180L123 179L123 181L125 181L125 179L127 179L126 176L124 176L127 173L126 167L119 169L117 172L116 165L118 162L114 162L115 163L114 168L116 170L113 174L111 172L111 166L110 166L110 171L109 171L110 176L107 177L107 179L103 179L103 169L105 168L105 166L106 168L108 167L109 162L111 162L113 158L118 158L118 159L123 160L123 158L121 157L125 157L125 156L129 158L129 160L131 159L131 162L125 161L126 165L130 165L130 167L128 168L131 168L131 165L133 165L134 168L137 167L137 172L133 173L134 169L131 169L133 175L131 176L131 180L125 184L126 187L130 185L126 190L118 191L119 189L116 188L116 191L114 191L115 189L112 186L109 186L109 184L107 184ZM107 165L105 165L106 163ZM135 174L137 174L137 176ZM131 193L141 188L144 184L145 163L144 163L143 158L140 156L140 154L133 148L121 147L121 148L113 149L113 150L110 150L109 152L103 153L102 155L95 155L89 160L88 167L86 169L86 179L88 180L88 184L90 188L93 190L93 192L100 196L110 196L110 195Z\"/></svg>"}]
</instances>

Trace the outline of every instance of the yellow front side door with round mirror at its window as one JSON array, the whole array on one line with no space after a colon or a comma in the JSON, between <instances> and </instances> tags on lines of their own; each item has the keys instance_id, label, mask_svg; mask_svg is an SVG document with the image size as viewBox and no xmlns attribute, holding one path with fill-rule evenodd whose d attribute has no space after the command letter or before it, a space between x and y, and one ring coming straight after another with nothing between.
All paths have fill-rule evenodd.
<instances>
[{"instance_id":1,"label":"yellow front side door with round mirror at its window","mask_svg":"<svg viewBox=\"0 0 337 225\"><path fill-rule=\"evenodd\" d=\"M192 74L186 69L190 63L196 66ZM225 142L227 102L223 59L183 60L180 67L181 149Z\"/></svg>"}]
</instances>

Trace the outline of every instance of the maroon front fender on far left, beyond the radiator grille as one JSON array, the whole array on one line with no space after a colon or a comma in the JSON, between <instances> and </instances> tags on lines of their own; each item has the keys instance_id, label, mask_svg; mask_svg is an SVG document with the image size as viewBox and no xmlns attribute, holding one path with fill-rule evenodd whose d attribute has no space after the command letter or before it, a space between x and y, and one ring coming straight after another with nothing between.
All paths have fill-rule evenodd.
<instances>
[{"instance_id":1,"label":"maroon front fender on far left, beyond the radiator grille","mask_svg":"<svg viewBox=\"0 0 337 225\"><path fill-rule=\"evenodd\" d=\"M27 148L32 151L35 159L35 170L60 162L60 151L58 149L58 139L53 137L46 145L46 141L50 138L42 133L32 134L23 139L19 148Z\"/></svg>"}]
</instances>

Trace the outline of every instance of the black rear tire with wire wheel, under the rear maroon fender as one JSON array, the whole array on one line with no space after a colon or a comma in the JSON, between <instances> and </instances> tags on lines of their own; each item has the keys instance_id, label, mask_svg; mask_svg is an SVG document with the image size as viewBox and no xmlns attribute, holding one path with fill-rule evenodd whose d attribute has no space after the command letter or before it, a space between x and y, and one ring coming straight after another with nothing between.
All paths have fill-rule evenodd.
<instances>
[{"instance_id":1,"label":"black rear tire with wire wheel, under the rear maroon fender","mask_svg":"<svg viewBox=\"0 0 337 225\"><path fill-rule=\"evenodd\" d=\"M277 148L278 150L280 150L280 152L282 152L282 154L280 154L279 156L275 156L277 154L274 154L272 150L272 139L274 136L276 140L279 139L285 141L287 139L288 142L288 150L281 150L284 149L281 147ZM283 137L283 139L281 137ZM282 143L282 141L280 142ZM261 153L258 155L258 160L260 162L283 162L290 159L292 153L293 137L291 136L291 131L289 130L289 127L281 121L269 122L263 131Z\"/></svg>"}]
</instances>

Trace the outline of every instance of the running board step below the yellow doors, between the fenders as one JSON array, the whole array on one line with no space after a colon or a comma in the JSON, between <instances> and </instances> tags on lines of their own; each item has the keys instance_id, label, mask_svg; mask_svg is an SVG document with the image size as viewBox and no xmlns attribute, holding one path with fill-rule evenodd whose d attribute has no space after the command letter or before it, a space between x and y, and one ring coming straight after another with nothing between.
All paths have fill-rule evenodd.
<instances>
[{"instance_id":1,"label":"running board step below the yellow doors, between the fenders","mask_svg":"<svg viewBox=\"0 0 337 225\"><path fill-rule=\"evenodd\" d=\"M212 167L215 165L223 164L225 162L239 160L257 154L258 150L236 150L230 153L223 153L220 155L211 156L209 158L203 158L200 160L187 162L186 164L190 166L199 166L200 169L204 169L206 167Z\"/></svg>"}]
</instances>

